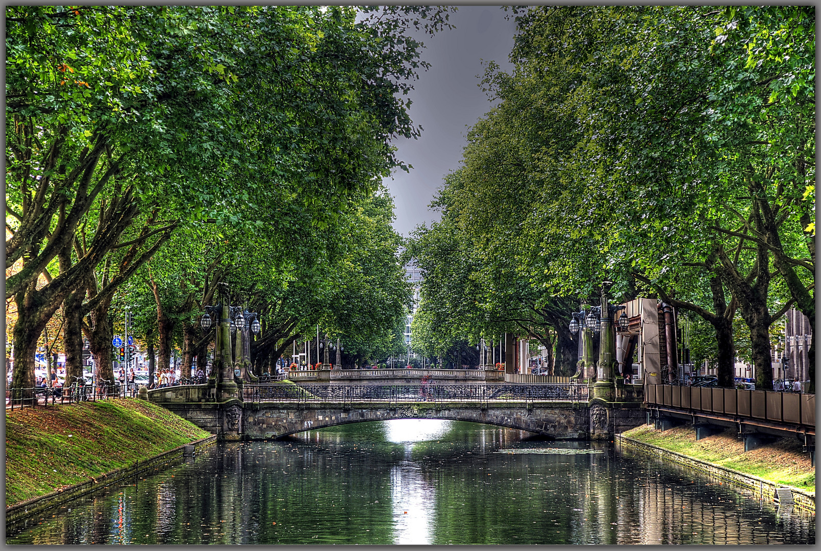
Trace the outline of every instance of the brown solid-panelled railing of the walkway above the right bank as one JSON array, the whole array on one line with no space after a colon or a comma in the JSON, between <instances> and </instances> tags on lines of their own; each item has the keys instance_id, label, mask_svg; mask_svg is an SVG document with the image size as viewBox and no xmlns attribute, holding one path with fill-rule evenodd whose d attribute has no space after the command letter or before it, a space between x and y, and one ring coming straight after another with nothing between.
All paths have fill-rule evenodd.
<instances>
[{"instance_id":1,"label":"brown solid-panelled railing of the walkway above the right bank","mask_svg":"<svg viewBox=\"0 0 821 551\"><path fill-rule=\"evenodd\" d=\"M647 385L649 406L815 427L815 395L740 388Z\"/></svg>"}]
</instances>

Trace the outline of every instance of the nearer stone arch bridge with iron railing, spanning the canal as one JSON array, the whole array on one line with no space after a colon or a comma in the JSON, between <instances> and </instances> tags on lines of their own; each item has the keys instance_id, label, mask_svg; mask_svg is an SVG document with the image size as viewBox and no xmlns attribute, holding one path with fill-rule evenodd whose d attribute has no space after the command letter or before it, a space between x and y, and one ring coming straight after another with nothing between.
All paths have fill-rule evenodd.
<instances>
[{"instance_id":1,"label":"nearer stone arch bridge with iron railing, spanning the canal","mask_svg":"<svg viewBox=\"0 0 821 551\"><path fill-rule=\"evenodd\" d=\"M213 389L211 389L213 390ZM553 439L607 439L644 423L640 401L588 398L586 385L245 385L216 402L208 385L157 388L148 399L222 439L274 439L376 420L463 420Z\"/></svg>"}]
</instances>

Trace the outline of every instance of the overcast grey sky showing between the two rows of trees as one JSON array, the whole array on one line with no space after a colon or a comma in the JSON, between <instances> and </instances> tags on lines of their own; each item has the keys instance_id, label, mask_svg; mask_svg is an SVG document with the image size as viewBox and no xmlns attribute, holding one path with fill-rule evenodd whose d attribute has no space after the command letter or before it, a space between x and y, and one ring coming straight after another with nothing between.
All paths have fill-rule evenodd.
<instances>
[{"instance_id":1,"label":"overcast grey sky showing between the two rows of trees","mask_svg":"<svg viewBox=\"0 0 821 551\"><path fill-rule=\"evenodd\" d=\"M507 55L516 24L506 21L505 13L497 6L460 6L450 17L456 29L423 39L422 57L431 67L415 81L410 117L424 130L418 140L394 142L398 158L413 165L410 174L397 170L384 180L396 200L393 227L404 236L438 219L428 204L447 172L459 168L468 127L492 107L479 88L482 60L511 68Z\"/></svg>"}]
</instances>

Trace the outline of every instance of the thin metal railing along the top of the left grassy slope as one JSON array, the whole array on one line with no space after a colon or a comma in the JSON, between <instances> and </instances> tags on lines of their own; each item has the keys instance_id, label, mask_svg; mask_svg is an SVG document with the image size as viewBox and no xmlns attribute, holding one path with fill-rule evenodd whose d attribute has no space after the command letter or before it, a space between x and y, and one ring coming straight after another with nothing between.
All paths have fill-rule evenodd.
<instances>
[{"instance_id":1,"label":"thin metal railing along the top of the left grassy slope","mask_svg":"<svg viewBox=\"0 0 821 551\"><path fill-rule=\"evenodd\" d=\"M92 384L85 379L77 379L74 383L60 388L7 388L6 406L11 410L21 407L48 407L78 402L97 402L128 397L129 394L126 387L118 382L101 381Z\"/></svg>"}]
</instances>

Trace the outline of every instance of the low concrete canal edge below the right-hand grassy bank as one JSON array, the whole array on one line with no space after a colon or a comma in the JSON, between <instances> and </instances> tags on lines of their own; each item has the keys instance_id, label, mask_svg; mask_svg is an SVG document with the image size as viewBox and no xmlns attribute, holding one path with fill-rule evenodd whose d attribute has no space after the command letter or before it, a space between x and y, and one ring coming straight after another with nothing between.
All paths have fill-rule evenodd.
<instances>
[{"instance_id":1,"label":"low concrete canal edge below the right-hand grassy bank","mask_svg":"<svg viewBox=\"0 0 821 551\"><path fill-rule=\"evenodd\" d=\"M679 452L659 448L653 444L639 442L638 440L621 436L621 434L617 434L616 442L620 448L632 448L649 456L658 457L663 461L677 463L678 465L689 467L694 471L711 475L719 480L726 480L736 486L749 489L754 495L768 499L769 501L773 500L778 488L788 488L792 492L792 499L796 508L815 514L815 494L810 494L803 489L775 484L755 475L747 475L739 471L734 471L733 469L727 469L727 467L718 466L709 461L702 461Z\"/></svg>"}]
</instances>

